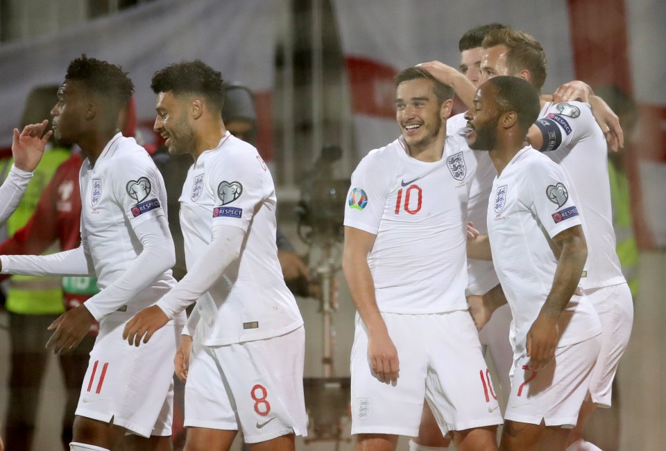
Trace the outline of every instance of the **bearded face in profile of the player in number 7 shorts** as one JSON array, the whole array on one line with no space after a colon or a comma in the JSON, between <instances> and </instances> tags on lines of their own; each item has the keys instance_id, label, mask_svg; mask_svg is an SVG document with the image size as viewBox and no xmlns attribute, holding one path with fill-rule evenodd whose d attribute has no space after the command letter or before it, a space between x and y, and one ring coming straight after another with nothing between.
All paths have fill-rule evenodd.
<instances>
[{"instance_id":1,"label":"bearded face in profile of the player in number 7 shorts","mask_svg":"<svg viewBox=\"0 0 666 451\"><path fill-rule=\"evenodd\" d=\"M501 112L493 98L495 87L486 83L477 90L473 107L466 114L467 142L473 150L493 150L497 144L497 125Z\"/></svg>"}]
</instances>

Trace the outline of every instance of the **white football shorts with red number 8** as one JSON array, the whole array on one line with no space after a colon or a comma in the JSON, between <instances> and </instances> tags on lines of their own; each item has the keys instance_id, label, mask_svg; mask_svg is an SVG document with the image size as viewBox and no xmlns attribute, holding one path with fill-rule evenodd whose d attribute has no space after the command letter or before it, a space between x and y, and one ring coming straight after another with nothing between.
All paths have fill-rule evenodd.
<instances>
[{"instance_id":1,"label":"white football shorts with red number 8","mask_svg":"<svg viewBox=\"0 0 666 451\"><path fill-rule=\"evenodd\" d=\"M185 384L185 427L239 430L240 423L246 443L305 436L304 359L303 326L253 342L194 343Z\"/></svg>"}]
</instances>

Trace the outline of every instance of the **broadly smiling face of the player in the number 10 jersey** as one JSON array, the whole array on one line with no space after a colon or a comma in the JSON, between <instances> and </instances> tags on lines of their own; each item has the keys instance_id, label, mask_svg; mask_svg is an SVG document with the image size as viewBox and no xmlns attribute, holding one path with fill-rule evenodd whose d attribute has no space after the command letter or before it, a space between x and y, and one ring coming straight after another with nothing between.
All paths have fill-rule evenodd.
<instances>
[{"instance_id":1,"label":"broadly smiling face of the player in the number 10 jersey","mask_svg":"<svg viewBox=\"0 0 666 451\"><path fill-rule=\"evenodd\" d=\"M426 149L445 133L442 107L431 80L417 78L400 83L395 93L395 118L410 149Z\"/></svg>"}]
</instances>

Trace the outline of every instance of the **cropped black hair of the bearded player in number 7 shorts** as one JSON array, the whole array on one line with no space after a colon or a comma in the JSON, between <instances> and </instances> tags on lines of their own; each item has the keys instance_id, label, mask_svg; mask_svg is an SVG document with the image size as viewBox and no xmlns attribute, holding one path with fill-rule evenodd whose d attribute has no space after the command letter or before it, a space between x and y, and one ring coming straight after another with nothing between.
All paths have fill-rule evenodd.
<instances>
[{"instance_id":1,"label":"cropped black hair of the bearded player in number 7 shorts","mask_svg":"<svg viewBox=\"0 0 666 451\"><path fill-rule=\"evenodd\" d=\"M518 126L522 132L527 134L527 130L539 117L541 110L537 89L527 80L513 76L493 77L486 83L497 88L494 100L499 112L516 112Z\"/></svg>"}]
</instances>

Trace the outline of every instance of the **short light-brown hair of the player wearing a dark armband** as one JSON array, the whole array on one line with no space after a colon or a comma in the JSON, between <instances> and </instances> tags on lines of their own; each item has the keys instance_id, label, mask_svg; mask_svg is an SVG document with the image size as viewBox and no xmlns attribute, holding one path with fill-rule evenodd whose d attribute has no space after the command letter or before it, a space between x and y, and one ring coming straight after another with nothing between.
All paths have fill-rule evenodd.
<instances>
[{"instance_id":1,"label":"short light-brown hair of the player wearing a dark armband","mask_svg":"<svg viewBox=\"0 0 666 451\"><path fill-rule=\"evenodd\" d=\"M531 74L531 84L541 89L546 81L546 54L543 47L531 35L513 28L502 28L491 31L486 35L484 48L504 45L509 50L506 53L506 64L509 73L516 75L523 69Z\"/></svg>"}]
</instances>

